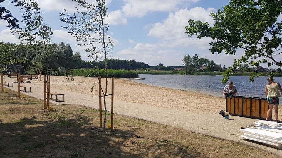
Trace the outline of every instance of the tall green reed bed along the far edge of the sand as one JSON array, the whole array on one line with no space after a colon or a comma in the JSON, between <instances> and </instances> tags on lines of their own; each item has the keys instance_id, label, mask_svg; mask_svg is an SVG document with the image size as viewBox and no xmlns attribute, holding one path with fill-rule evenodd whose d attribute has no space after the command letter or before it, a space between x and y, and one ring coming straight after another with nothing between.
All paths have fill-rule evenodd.
<instances>
[{"instance_id":1,"label":"tall green reed bed along the far edge of the sand","mask_svg":"<svg viewBox=\"0 0 282 158\"><path fill-rule=\"evenodd\" d=\"M73 75L85 77L106 77L105 69L73 69ZM138 78L138 74L128 70L113 70L108 69L108 77L114 78Z\"/></svg>"}]
</instances>

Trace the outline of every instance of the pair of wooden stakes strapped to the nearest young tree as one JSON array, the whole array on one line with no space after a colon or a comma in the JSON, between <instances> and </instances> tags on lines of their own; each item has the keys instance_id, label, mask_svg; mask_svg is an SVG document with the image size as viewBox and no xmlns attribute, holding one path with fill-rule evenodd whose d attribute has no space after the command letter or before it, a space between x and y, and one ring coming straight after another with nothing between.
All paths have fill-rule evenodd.
<instances>
[{"instance_id":1,"label":"pair of wooden stakes strapped to the nearest young tree","mask_svg":"<svg viewBox=\"0 0 282 158\"><path fill-rule=\"evenodd\" d=\"M100 118L100 128L102 128L102 97L105 98L108 95L111 95L111 132L113 132L114 127L114 77L112 77L112 94L102 96L102 87L101 87L101 76L98 76L99 80L99 118Z\"/></svg>"}]
</instances>

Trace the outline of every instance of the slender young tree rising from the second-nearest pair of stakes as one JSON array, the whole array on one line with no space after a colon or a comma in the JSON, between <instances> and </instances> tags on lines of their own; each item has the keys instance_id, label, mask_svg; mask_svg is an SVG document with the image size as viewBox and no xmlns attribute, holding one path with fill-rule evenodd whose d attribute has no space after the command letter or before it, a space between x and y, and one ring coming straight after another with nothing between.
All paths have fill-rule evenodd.
<instances>
[{"instance_id":1,"label":"slender young tree rising from the second-nearest pair of stakes","mask_svg":"<svg viewBox=\"0 0 282 158\"><path fill-rule=\"evenodd\" d=\"M12 28L12 32L13 34L18 33L20 40L25 41L29 47L40 54L43 71L49 75L50 56L53 53L50 41L53 32L48 25L43 24L41 9L36 1L23 1L21 6L23 7L21 10L24 10L22 22L25 23L25 28Z\"/></svg>"}]
</instances>

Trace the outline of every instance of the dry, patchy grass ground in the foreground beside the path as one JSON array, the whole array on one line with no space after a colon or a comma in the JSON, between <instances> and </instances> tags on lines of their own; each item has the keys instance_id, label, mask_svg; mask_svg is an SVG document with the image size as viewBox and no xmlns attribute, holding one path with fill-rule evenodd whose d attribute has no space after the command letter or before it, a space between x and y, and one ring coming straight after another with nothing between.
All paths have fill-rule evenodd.
<instances>
[{"instance_id":1,"label":"dry, patchy grass ground in the foreground beside the path","mask_svg":"<svg viewBox=\"0 0 282 158\"><path fill-rule=\"evenodd\" d=\"M99 127L97 109L53 105L0 92L0 157L276 157L187 130L115 114ZM110 120L110 115L108 115ZM107 122L108 124L108 122Z\"/></svg>"}]
</instances>

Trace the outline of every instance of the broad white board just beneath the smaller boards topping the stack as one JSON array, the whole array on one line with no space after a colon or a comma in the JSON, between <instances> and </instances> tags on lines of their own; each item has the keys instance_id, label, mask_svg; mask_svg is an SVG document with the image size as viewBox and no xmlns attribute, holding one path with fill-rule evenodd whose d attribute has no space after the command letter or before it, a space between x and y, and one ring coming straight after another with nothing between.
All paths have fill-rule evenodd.
<instances>
[{"instance_id":1,"label":"broad white board just beneath the smaller boards topping the stack","mask_svg":"<svg viewBox=\"0 0 282 158\"><path fill-rule=\"evenodd\" d=\"M255 128L245 128L245 129L240 129L240 131L244 133L251 133L254 135L271 138L274 140L282 140L282 133L276 133L267 130L255 129Z\"/></svg>"}]
</instances>

